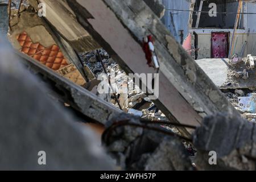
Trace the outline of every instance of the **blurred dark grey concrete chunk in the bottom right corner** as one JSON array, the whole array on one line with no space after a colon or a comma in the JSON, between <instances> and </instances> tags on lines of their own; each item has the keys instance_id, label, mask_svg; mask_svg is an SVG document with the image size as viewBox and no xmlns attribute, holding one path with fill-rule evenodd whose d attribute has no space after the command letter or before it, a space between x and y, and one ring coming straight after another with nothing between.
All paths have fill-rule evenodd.
<instances>
[{"instance_id":1,"label":"blurred dark grey concrete chunk in the bottom right corner","mask_svg":"<svg viewBox=\"0 0 256 182\"><path fill-rule=\"evenodd\" d=\"M255 132L255 123L226 113L205 118L193 134L197 168L255 171ZM209 164L209 151L217 152L217 165Z\"/></svg>"}]
</instances>

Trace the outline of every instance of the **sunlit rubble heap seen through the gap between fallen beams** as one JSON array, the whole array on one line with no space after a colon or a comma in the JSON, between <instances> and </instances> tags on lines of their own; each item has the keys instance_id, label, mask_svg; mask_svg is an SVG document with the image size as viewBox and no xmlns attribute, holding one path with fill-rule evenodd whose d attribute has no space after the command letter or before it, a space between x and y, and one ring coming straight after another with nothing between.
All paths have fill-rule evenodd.
<instances>
[{"instance_id":1,"label":"sunlit rubble heap seen through the gap between fallen beams","mask_svg":"<svg viewBox=\"0 0 256 182\"><path fill-rule=\"evenodd\" d=\"M140 117L150 119L151 121L168 121L166 115L164 115L162 111L154 105L154 103L147 97L145 93L141 91L137 92L137 90L140 90L138 86L134 84L133 80L129 79L129 76L125 73L125 71L123 71L117 63L115 63L108 53L104 49L100 49L99 52L108 75L111 76L111 74L114 73L112 88L115 88L117 91L114 94L116 94L119 98L118 101L120 101L119 90L122 89L122 83L123 81L128 81L128 97L126 98L128 104L127 108L125 108L127 109L126 113L139 115ZM80 53L80 57L84 64L90 68L96 78L100 80L101 74L104 74L104 68L99 61L97 51ZM111 102L115 107L119 108L113 94L110 94L109 97L109 102Z\"/></svg>"}]
</instances>

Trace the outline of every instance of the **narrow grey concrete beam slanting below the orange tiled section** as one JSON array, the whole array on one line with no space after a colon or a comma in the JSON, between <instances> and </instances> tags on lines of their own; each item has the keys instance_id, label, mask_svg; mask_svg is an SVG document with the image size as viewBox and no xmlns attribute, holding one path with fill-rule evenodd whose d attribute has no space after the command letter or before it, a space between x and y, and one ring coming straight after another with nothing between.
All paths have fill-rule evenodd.
<instances>
[{"instance_id":1,"label":"narrow grey concrete beam slanting below the orange tiled section","mask_svg":"<svg viewBox=\"0 0 256 182\"><path fill-rule=\"evenodd\" d=\"M15 53L32 72L42 76L43 80L46 80L46 84L49 85L50 83L51 89L48 90L47 94L57 98L60 102L71 105L86 117L105 125L106 121L122 112L88 90L61 77L31 57L18 51L15 51Z\"/></svg>"}]
</instances>

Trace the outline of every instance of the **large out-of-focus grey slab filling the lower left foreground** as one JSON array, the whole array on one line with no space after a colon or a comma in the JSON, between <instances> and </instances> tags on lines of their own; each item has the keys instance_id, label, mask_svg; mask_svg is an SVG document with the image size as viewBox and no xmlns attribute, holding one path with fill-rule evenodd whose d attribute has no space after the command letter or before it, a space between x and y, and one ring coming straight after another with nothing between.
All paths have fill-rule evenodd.
<instances>
[{"instance_id":1,"label":"large out-of-focus grey slab filling the lower left foreground","mask_svg":"<svg viewBox=\"0 0 256 182\"><path fill-rule=\"evenodd\" d=\"M0 169L113 169L93 132L49 99L7 47L0 38Z\"/></svg>"}]
</instances>

